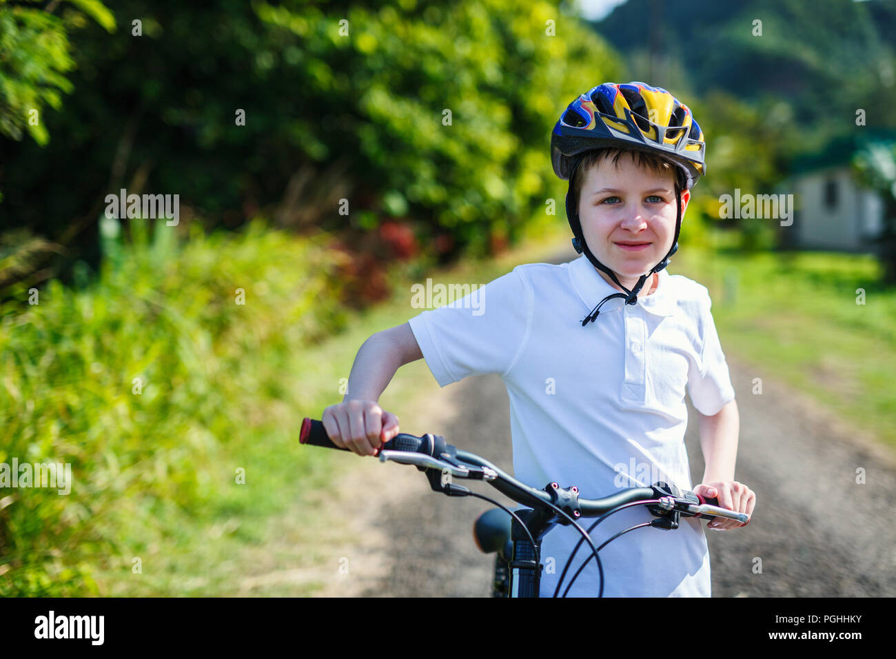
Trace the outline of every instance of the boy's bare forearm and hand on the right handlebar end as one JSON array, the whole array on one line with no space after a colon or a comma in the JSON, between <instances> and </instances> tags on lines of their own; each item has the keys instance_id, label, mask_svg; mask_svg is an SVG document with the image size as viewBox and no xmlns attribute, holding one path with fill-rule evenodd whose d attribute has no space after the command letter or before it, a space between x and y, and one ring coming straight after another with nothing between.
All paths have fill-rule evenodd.
<instances>
[{"instance_id":1,"label":"boy's bare forearm and hand on the right handlebar end","mask_svg":"<svg viewBox=\"0 0 896 659\"><path fill-rule=\"evenodd\" d=\"M706 416L697 412L700 429L700 445L706 467L702 483L694 491L704 496L718 497L719 506L753 515L756 495L743 483L734 480L737 462L737 439L740 432L740 415L737 401L731 400L719 412ZM712 522L711 528L725 531L742 526L725 519Z\"/></svg>"}]
</instances>

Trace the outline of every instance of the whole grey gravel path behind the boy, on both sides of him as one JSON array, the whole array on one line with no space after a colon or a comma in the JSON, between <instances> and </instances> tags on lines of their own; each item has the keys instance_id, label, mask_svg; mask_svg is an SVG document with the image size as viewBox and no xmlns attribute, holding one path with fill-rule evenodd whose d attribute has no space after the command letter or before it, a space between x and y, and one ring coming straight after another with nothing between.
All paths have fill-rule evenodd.
<instances>
[{"instance_id":1,"label":"whole grey gravel path behind the boy, on both sides of him","mask_svg":"<svg viewBox=\"0 0 896 659\"><path fill-rule=\"evenodd\" d=\"M756 492L757 508L748 527L707 533L713 596L896 595L896 530L889 524L896 456L857 437L762 369L732 355L728 364L741 419L736 477ZM762 378L762 394L754 395L756 377ZM436 409L448 412L426 416ZM508 400L499 377L468 378L408 412L402 429L440 432L512 471ZM695 415L690 408L685 440L699 482ZM857 484L858 468L865 470L866 484ZM384 494L349 516L355 540L342 551L355 557L349 558L352 568L328 579L321 594L488 594L493 556L481 554L470 533L486 503L436 494L408 466L358 458L352 469L354 492ZM487 486L474 488L507 502ZM754 571L759 559L761 573Z\"/></svg>"}]
</instances>

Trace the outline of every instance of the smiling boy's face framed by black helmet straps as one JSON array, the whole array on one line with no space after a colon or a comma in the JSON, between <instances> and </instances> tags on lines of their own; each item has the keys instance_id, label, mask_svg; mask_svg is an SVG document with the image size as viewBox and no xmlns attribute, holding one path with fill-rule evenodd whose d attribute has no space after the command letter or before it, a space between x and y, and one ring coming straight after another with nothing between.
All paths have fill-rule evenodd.
<instances>
[{"instance_id":1,"label":"smiling boy's face framed by black helmet straps","mask_svg":"<svg viewBox=\"0 0 896 659\"><path fill-rule=\"evenodd\" d=\"M682 217L691 198L682 193ZM599 160L585 175L579 196L582 234L591 252L631 281L658 264L672 247L676 223L675 175L639 168L631 153L618 167Z\"/></svg>"}]
</instances>

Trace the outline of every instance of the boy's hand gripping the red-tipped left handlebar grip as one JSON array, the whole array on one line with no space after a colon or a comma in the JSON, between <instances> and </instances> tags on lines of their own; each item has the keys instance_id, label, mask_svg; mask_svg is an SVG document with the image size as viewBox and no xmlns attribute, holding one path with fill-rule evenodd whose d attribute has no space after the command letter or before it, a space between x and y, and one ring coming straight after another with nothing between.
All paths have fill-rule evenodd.
<instances>
[{"instance_id":1,"label":"boy's hand gripping the red-tipped left handlebar grip","mask_svg":"<svg viewBox=\"0 0 896 659\"><path fill-rule=\"evenodd\" d=\"M376 401L345 401L330 405L321 416L332 443L358 455L374 455L383 442L399 433L398 417Z\"/></svg>"}]
</instances>

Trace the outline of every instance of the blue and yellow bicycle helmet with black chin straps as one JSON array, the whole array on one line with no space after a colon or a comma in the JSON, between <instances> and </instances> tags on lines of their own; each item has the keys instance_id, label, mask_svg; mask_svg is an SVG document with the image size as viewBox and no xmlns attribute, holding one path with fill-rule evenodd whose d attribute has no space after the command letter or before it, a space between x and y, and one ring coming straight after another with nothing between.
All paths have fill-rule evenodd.
<instances>
[{"instance_id":1,"label":"blue and yellow bicycle helmet with black chin straps","mask_svg":"<svg viewBox=\"0 0 896 659\"><path fill-rule=\"evenodd\" d=\"M616 278L616 273L591 253L582 235L578 200L573 199L572 179L582 155L606 148L656 153L676 166L678 214L672 247L659 264L653 266L649 273L642 274L632 290L625 288ZM558 177L570 181L566 193L566 217L573 230L573 247L625 290L625 294L615 293L601 300L582 320L582 326L598 317L600 305L607 299L625 298L626 304L637 304L638 292L647 278L669 264L669 258L678 249L681 192L694 187L706 173L705 151L703 132L694 121L691 110L668 91L644 82L605 82L583 93L565 109L551 134L551 163Z\"/></svg>"}]
</instances>

